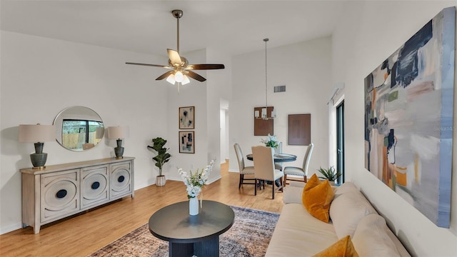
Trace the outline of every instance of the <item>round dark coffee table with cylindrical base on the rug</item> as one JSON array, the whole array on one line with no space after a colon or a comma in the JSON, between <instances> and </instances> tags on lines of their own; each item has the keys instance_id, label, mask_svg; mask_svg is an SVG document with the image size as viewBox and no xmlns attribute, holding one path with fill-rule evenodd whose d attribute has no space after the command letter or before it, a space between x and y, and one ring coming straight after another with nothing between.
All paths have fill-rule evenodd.
<instances>
[{"instance_id":1,"label":"round dark coffee table with cylindrical base on the rug","mask_svg":"<svg viewBox=\"0 0 457 257\"><path fill-rule=\"evenodd\" d=\"M169 241L169 256L219 256L219 235L233 225L235 213L224 203L203 201L196 216L189 201L174 203L149 218L149 231Z\"/></svg>"}]
</instances>

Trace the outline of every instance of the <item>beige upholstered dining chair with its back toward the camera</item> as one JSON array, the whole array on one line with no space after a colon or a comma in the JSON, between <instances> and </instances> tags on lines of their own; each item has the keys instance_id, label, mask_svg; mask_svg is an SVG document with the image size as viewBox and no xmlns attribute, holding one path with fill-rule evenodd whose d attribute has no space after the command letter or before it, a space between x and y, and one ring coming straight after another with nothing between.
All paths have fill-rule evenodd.
<instances>
[{"instance_id":1,"label":"beige upholstered dining chair with its back toward the camera","mask_svg":"<svg viewBox=\"0 0 457 257\"><path fill-rule=\"evenodd\" d=\"M271 181L272 186L272 198L274 199L275 183L274 181L279 180L280 186L278 189L283 191L283 176L284 173L274 168L274 150L268 146L252 146L252 156L254 161L254 178L257 182L260 181ZM265 183L263 183L265 185ZM257 195L257 186L254 187L254 195Z\"/></svg>"}]
</instances>

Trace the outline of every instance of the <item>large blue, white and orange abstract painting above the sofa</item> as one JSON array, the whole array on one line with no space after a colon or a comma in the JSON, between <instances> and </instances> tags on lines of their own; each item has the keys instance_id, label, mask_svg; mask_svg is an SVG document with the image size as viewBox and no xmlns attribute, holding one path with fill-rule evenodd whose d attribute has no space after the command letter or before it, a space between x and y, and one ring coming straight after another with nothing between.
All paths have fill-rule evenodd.
<instances>
[{"instance_id":1,"label":"large blue, white and orange abstract painting above the sofa","mask_svg":"<svg viewBox=\"0 0 457 257\"><path fill-rule=\"evenodd\" d=\"M451 216L456 7L365 78L365 168L437 226Z\"/></svg>"}]
</instances>

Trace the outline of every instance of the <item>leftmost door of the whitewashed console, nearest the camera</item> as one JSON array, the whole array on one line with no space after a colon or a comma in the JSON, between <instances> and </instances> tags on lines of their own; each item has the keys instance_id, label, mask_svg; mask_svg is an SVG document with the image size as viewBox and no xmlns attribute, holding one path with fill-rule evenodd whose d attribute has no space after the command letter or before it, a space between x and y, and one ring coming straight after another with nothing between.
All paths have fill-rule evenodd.
<instances>
[{"instance_id":1,"label":"leftmost door of the whitewashed console, nearest the camera","mask_svg":"<svg viewBox=\"0 0 457 257\"><path fill-rule=\"evenodd\" d=\"M79 169L41 175L41 222L79 211Z\"/></svg>"}]
</instances>

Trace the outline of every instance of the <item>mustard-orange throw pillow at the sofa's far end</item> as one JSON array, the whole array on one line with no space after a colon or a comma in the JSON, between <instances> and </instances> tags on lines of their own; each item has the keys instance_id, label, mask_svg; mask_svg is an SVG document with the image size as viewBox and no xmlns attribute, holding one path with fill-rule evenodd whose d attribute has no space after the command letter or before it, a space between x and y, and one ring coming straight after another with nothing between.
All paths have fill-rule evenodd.
<instances>
[{"instance_id":1,"label":"mustard-orange throw pillow at the sofa's far end","mask_svg":"<svg viewBox=\"0 0 457 257\"><path fill-rule=\"evenodd\" d=\"M321 182L316 174L313 174L303 189L301 201L311 216L328 223L328 209L333 196L333 189L328 180Z\"/></svg>"}]
</instances>

